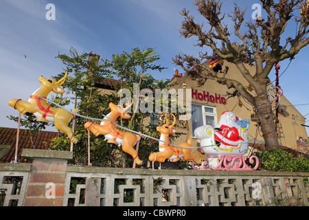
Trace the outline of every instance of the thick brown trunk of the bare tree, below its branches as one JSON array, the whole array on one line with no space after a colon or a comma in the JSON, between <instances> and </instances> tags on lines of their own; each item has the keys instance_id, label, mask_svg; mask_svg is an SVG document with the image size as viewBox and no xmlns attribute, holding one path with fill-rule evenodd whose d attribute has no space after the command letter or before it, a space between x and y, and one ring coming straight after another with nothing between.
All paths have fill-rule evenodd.
<instances>
[{"instance_id":1,"label":"thick brown trunk of the bare tree, below its branches","mask_svg":"<svg viewBox=\"0 0 309 220\"><path fill-rule=\"evenodd\" d=\"M280 145L277 138L275 129L275 122L273 119L273 111L271 108L271 102L268 100L268 94L266 89L257 93L255 97L257 106L258 119L261 126L262 135L265 141L265 148L268 149L279 149Z\"/></svg>"}]
</instances>

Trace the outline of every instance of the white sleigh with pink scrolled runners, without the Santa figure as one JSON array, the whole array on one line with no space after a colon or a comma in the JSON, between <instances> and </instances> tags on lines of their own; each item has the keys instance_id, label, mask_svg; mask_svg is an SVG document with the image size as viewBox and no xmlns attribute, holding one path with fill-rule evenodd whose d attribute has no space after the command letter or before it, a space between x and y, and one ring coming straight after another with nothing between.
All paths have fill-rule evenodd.
<instances>
[{"instance_id":1,"label":"white sleigh with pink scrolled runners, without the Santa figure","mask_svg":"<svg viewBox=\"0 0 309 220\"><path fill-rule=\"evenodd\" d=\"M207 154L207 161L203 162L203 170L256 170L259 166L259 160L256 156L251 156L249 162L254 163L255 167L250 168L246 164L247 157L244 156L249 148L248 127L238 129L242 140L230 142L227 139L228 132L224 135L216 133L216 130L210 125L200 126L194 131L194 136L203 150ZM216 142L215 133L220 136L222 142ZM192 164L196 168L196 164Z\"/></svg>"}]
</instances>

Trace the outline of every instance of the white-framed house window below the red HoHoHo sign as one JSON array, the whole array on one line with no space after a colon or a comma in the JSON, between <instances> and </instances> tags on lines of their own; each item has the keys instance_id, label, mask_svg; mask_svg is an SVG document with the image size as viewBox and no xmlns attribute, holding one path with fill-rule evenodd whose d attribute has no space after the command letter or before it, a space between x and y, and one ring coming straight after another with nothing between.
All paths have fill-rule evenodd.
<instances>
[{"instance_id":1,"label":"white-framed house window below the red HoHoHo sign","mask_svg":"<svg viewBox=\"0 0 309 220\"><path fill-rule=\"evenodd\" d=\"M217 126L216 107L192 104L192 132L205 124L214 128Z\"/></svg>"}]
</instances>

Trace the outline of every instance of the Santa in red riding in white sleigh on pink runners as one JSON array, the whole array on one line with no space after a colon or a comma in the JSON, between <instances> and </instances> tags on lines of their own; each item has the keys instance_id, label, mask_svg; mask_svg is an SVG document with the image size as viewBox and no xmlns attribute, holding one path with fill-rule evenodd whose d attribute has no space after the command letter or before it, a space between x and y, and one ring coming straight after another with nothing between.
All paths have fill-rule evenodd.
<instances>
[{"instance_id":1,"label":"Santa in red riding in white sleigh on pink runners","mask_svg":"<svg viewBox=\"0 0 309 220\"><path fill-rule=\"evenodd\" d=\"M194 137L198 139L203 153L209 155L207 161L202 163L201 169L256 170L259 164L258 157L251 156L249 159L251 164L255 159L254 168L249 168L245 163L247 157L244 154L249 148L249 124L248 119L241 120L231 111L225 111L220 117L218 128L205 125L195 129ZM195 164L192 165L194 166Z\"/></svg>"}]
</instances>

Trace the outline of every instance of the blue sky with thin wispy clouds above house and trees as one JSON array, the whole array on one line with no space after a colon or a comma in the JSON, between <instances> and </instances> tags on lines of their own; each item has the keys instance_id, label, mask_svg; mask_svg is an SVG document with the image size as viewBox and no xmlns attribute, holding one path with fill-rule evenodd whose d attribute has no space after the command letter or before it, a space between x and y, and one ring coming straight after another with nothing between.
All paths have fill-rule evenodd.
<instances>
[{"instance_id":1,"label":"blue sky with thin wispy clouds above house and trees","mask_svg":"<svg viewBox=\"0 0 309 220\"><path fill-rule=\"evenodd\" d=\"M251 6L259 3L236 2L247 8L249 19L254 11ZM56 7L55 21L45 19L48 3L54 3ZM198 14L193 0L1 0L0 126L16 127L15 122L5 117L18 115L18 111L8 106L8 100L28 100L30 94L40 87L39 76L55 76L62 72L64 65L55 56L58 52L69 54L71 46L80 54L95 52L101 58L130 52L135 47L157 47L156 52L161 56L158 64L168 69L150 74L162 79L172 78L174 68L182 72L172 63L172 57L179 53L197 55L199 50L193 47L196 39L180 37L183 17L179 12L183 8L190 10L199 23L205 21ZM232 8L233 1L225 0L222 11L230 12ZM266 13L262 12L262 17L266 17ZM231 22L227 21L227 24L229 28L233 27ZM286 34L295 35L293 21L288 25ZM295 105L309 103L308 48L295 56L280 78L284 96ZM203 48L203 52L205 50L210 52ZM288 63L280 63L281 72ZM275 79L274 70L270 78ZM309 115L309 105L296 107L301 114Z\"/></svg>"}]
</instances>

